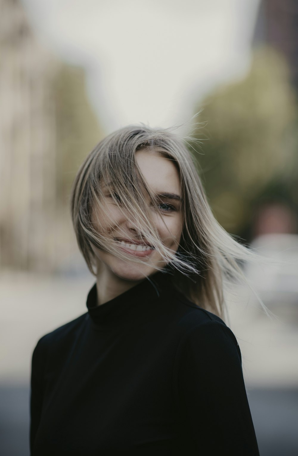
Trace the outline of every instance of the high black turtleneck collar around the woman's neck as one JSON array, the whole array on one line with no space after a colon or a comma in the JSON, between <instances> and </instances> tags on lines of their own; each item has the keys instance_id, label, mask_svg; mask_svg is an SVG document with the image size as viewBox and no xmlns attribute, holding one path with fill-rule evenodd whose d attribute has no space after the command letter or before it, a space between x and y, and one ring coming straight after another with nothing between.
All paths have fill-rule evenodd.
<instances>
[{"instance_id":1,"label":"high black turtleneck collar around the woman's neck","mask_svg":"<svg viewBox=\"0 0 298 456\"><path fill-rule=\"evenodd\" d=\"M157 272L121 295L98 306L95 283L87 296L88 315L97 329L111 330L125 321L141 316L148 306L161 302L160 298L169 295L172 291L171 275Z\"/></svg>"}]
</instances>

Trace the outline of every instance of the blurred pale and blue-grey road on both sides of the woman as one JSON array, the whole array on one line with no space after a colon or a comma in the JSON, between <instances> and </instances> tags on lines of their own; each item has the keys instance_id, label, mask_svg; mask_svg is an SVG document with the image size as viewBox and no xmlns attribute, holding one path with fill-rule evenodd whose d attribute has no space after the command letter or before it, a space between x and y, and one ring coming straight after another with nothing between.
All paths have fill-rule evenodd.
<instances>
[{"instance_id":1,"label":"blurred pale and blue-grey road on both sides of the woman","mask_svg":"<svg viewBox=\"0 0 298 456\"><path fill-rule=\"evenodd\" d=\"M0 455L26 456L31 355L46 332L82 315L89 274L0 275ZM298 455L298 305L268 317L243 289L227 296L261 456ZM249 302L248 302L249 301Z\"/></svg>"}]
</instances>

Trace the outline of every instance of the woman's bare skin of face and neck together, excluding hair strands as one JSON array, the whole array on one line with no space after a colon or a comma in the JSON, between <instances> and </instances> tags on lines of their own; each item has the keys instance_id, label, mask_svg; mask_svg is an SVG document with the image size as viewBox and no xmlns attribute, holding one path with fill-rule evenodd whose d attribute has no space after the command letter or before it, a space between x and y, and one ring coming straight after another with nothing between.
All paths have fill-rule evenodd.
<instances>
[{"instance_id":1,"label":"woman's bare skin of face and neck together, excluding hair strands","mask_svg":"<svg viewBox=\"0 0 298 456\"><path fill-rule=\"evenodd\" d=\"M182 233L178 170L173 161L159 150L149 147L143 147L135 153L135 162L145 185L158 200L152 203L148 195L146 204L160 242L175 253ZM127 258L121 259L92 244L99 304L109 301L118 290L131 288L139 280L144 280L156 272L156 268L162 268L167 263L159 251L154 249L155 241L149 241L139 233L137 224L130 220L123 210L119 190L116 193L113 184L111 187L112 191L103 184L101 204L93 211L94 228L102 235L107 233L109 242L114 241L115 248L123 251L123 254L144 258L146 261L136 263L128 261ZM108 284L111 292L103 297L105 284Z\"/></svg>"}]
</instances>

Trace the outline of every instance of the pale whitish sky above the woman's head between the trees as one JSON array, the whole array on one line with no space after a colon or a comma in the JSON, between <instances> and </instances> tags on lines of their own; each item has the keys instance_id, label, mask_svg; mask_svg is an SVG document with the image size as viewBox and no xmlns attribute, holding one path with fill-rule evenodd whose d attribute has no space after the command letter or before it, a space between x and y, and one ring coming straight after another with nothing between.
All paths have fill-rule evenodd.
<instances>
[{"instance_id":1,"label":"pale whitish sky above the woman's head between the trees","mask_svg":"<svg viewBox=\"0 0 298 456\"><path fill-rule=\"evenodd\" d=\"M107 132L185 122L249 68L259 0L22 0L40 40L83 66Z\"/></svg>"}]
</instances>

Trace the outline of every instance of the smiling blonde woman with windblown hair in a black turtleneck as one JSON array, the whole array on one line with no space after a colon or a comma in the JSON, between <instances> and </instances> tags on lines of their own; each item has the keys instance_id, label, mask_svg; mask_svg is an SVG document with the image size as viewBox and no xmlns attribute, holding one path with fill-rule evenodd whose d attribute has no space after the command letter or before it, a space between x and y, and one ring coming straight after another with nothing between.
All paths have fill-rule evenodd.
<instances>
[{"instance_id":1,"label":"smiling blonde woman with windblown hair in a black turtleneck","mask_svg":"<svg viewBox=\"0 0 298 456\"><path fill-rule=\"evenodd\" d=\"M216 222L185 144L126 127L71 197L96 283L32 358L31 455L258 455L223 292L251 252Z\"/></svg>"}]
</instances>

